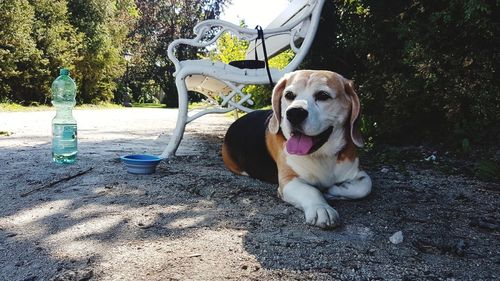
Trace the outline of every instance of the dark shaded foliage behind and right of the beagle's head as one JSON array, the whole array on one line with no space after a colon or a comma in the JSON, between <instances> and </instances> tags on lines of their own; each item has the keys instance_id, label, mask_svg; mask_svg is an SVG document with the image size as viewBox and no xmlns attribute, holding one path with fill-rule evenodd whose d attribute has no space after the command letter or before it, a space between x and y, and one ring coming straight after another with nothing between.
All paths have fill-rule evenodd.
<instances>
[{"instance_id":1,"label":"dark shaded foliage behind and right of the beagle's head","mask_svg":"<svg viewBox=\"0 0 500 281\"><path fill-rule=\"evenodd\" d=\"M500 131L500 2L327 1L306 68L353 78L375 139L471 143ZM325 52L328 46L328 52Z\"/></svg>"}]
</instances>

